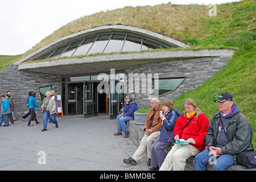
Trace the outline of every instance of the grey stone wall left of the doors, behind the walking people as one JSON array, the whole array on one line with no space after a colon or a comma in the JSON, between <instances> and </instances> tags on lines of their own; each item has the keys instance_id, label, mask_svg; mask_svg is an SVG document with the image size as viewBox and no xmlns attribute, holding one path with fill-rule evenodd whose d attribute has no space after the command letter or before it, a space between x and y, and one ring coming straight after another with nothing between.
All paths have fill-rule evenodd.
<instances>
[{"instance_id":1,"label":"grey stone wall left of the doors, behind the walking people","mask_svg":"<svg viewBox=\"0 0 256 182\"><path fill-rule=\"evenodd\" d=\"M40 98L39 87L52 85L55 94L61 94L61 76L46 75L28 71L18 70L18 65L10 65L0 72L0 94L6 94L11 91L11 96L14 98L14 116L21 119L22 115L28 111L27 97L28 92L36 93L36 102L39 107L43 101ZM43 116L41 110L36 109L36 114Z\"/></svg>"}]
</instances>

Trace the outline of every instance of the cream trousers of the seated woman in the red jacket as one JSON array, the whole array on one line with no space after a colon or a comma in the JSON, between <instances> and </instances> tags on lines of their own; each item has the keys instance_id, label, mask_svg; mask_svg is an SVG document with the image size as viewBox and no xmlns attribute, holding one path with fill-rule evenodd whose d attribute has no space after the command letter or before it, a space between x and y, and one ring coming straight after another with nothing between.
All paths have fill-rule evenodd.
<instances>
[{"instance_id":1,"label":"cream trousers of the seated woman in the red jacket","mask_svg":"<svg viewBox=\"0 0 256 182\"><path fill-rule=\"evenodd\" d=\"M184 171L186 160L198 153L199 150L191 144L178 145L175 143L168 152L159 171Z\"/></svg>"}]
</instances>

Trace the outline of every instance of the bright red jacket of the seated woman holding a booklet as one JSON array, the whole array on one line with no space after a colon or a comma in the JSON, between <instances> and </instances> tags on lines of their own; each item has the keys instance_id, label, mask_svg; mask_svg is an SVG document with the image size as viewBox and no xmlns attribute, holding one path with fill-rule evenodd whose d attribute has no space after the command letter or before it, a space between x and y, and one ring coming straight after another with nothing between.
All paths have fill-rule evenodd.
<instances>
[{"instance_id":1,"label":"bright red jacket of the seated woman holding a booklet","mask_svg":"<svg viewBox=\"0 0 256 182\"><path fill-rule=\"evenodd\" d=\"M192 119L187 125L189 119ZM205 149L205 135L207 134L209 119L206 117L204 113L200 113L200 115L196 118L193 115L191 118L187 117L184 113L181 114L179 119L177 119L176 125L174 127L174 136L179 135L179 138L188 139L193 138L196 144L191 144L196 147L199 152Z\"/></svg>"}]
</instances>

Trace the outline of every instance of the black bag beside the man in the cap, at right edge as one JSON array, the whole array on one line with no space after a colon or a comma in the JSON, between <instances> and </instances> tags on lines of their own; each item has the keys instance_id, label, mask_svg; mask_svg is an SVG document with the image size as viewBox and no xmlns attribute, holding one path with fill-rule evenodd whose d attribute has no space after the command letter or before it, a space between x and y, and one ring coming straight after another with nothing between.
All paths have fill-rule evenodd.
<instances>
[{"instance_id":1,"label":"black bag beside the man in the cap, at right edge","mask_svg":"<svg viewBox=\"0 0 256 182\"><path fill-rule=\"evenodd\" d=\"M242 165L245 169L256 167L256 151L253 148L246 148L237 156L237 163Z\"/></svg>"}]
</instances>

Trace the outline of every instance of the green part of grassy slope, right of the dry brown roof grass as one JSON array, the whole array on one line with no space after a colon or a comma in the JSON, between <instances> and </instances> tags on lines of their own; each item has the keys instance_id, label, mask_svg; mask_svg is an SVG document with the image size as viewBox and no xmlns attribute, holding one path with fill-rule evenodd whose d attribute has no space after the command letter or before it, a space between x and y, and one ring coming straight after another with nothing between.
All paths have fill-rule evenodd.
<instances>
[{"instance_id":1,"label":"green part of grassy slope, right of the dry brown roof grass","mask_svg":"<svg viewBox=\"0 0 256 182\"><path fill-rule=\"evenodd\" d=\"M218 111L213 102L221 92L233 95L234 103L253 127L253 146L256 148L256 54L255 54L255 1L242 1L217 6L220 12L208 18L208 31L211 35L199 39L187 37L185 41L196 46L229 46L237 51L228 65L199 88L183 93L174 100L177 109L184 111L183 102L192 98L209 120Z\"/></svg>"}]
</instances>

